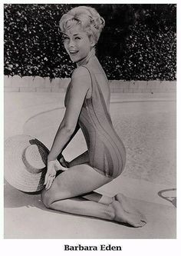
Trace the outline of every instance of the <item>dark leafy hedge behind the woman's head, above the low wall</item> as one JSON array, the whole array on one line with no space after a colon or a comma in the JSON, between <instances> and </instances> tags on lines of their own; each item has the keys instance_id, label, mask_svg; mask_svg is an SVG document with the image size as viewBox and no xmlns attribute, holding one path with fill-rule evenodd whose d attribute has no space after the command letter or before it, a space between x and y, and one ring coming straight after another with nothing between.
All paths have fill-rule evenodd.
<instances>
[{"instance_id":1,"label":"dark leafy hedge behind the woman's head, above the low wall","mask_svg":"<svg viewBox=\"0 0 181 256\"><path fill-rule=\"evenodd\" d=\"M58 22L75 5L6 4L5 75L70 77ZM97 56L109 79L176 80L176 5L91 5L106 20Z\"/></svg>"}]
</instances>

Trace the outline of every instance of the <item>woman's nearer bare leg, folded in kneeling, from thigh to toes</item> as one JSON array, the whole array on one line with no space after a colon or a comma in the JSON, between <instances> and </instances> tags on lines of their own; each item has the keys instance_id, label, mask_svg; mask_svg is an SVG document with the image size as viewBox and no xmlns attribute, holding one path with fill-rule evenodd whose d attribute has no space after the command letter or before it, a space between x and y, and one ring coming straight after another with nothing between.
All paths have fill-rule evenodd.
<instances>
[{"instance_id":1,"label":"woman's nearer bare leg, folded in kneeling, from thigh to toes","mask_svg":"<svg viewBox=\"0 0 181 256\"><path fill-rule=\"evenodd\" d=\"M94 191L110 180L89 165L76 165L58 175L48 191L42 191L42 201L47 208L58 211L124 222L134 227L143 226L140 214L128 214L118 201L111 204L100 204L95 201L73 202L72 199L68 199Z\"/></svg>"}]
</instances>

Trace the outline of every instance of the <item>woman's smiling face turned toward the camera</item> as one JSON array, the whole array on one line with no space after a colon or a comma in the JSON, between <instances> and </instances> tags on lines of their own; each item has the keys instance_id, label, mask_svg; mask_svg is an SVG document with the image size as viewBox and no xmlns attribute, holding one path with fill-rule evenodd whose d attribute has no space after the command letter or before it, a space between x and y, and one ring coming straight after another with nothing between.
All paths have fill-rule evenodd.
<instances>
[{"instance_id":1,"label":"woman's smiling face turned toward the camera","mask_svg":"<svg viewBox=\"0 0 181 256\"><path fill-rule=\"evenodd\" d=\"M74 25L64 33L64 48L72 62L80 62L86 58L93 46L94 42L81 29L81 25Z\"/></svg>"}]
</instances>

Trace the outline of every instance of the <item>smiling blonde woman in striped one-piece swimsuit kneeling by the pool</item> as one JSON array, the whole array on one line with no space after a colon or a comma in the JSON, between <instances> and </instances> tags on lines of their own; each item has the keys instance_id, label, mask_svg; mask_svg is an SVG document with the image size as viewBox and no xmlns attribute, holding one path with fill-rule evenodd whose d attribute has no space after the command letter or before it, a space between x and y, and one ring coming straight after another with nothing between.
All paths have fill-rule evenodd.
<instances>
[{"instance_id":1,"label":"smiling blonde woman in striped one-piece swimsuit kneeling by the pool","mask_svg":"<svg viewBox=\"0 0 181 256\"><path fill-rule=\"evenodd\" d=\"M64 118L48 155L41 198L47 208L142 227L145 218L123 194L110 198L94 192L117 178L126 161L123 142L110 118L107 77L95 56L104 23L94 8L85 6L71 9L61 18L64 48L77 68L67 88ZM67 163L61 152L79 128L88 150Z\"/></svg>"}]
</instances>

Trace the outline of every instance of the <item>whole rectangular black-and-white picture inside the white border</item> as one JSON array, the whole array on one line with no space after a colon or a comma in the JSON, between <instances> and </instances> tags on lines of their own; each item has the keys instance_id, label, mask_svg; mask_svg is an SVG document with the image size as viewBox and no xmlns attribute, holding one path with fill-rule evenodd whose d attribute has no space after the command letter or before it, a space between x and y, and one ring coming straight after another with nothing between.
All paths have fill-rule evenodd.
<instances>
[{"instance_id":1,"label":"whole rectangular black-and-white picture inside the white border","mask_svg":"<svg viewBox=\"0 0 181 256\"><path fill-rule=\"evenodd\" d=\"M176 239L176 3L3 6L4 238Z\"/></svg>"}]
</instances>

